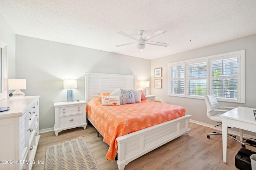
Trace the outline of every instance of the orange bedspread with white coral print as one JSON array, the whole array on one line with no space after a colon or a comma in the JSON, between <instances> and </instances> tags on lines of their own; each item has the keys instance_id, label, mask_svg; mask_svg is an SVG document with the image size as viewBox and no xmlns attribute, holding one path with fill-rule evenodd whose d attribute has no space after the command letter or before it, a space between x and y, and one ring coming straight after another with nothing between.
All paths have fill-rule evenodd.
<instances>
[{"instance_id":1,"label":"orange bedspread with white coral print","mask_svg":"<svg viewBox=\"0 0 256 170\"><path fill-rule=\"evenodd\" d=\"M112 161L116 156L117 137L184 116L185 109L147 100L141 103L102 106L100 97L96 97L88 103L87 114L102 134L104 142L110 146L106 158Z\"/></svg>"}]
</instances>

